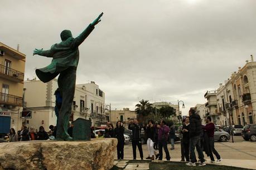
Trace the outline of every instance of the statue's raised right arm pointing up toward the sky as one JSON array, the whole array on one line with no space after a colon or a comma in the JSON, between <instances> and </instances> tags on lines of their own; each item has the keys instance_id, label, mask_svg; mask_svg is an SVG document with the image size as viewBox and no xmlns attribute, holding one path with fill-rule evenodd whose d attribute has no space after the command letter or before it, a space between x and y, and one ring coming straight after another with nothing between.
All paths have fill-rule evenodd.
<instances>
[{"instance_id":1,"label":"statue's raised right arm pointing up toward the sky","mask_svg":"<svg viewBox=\"0 0 256 170\"><path fill-rule=\"evenodd\" d=\"M100 17L103 16L103 12L96 18L89 26L78 36L74 39L73 41L73 48L77 48L80 46L81 43L84 42L84 40L89 36L89 34L93 31L94 26L98 24L101 20Z\"/></svg>"}]
</instances>

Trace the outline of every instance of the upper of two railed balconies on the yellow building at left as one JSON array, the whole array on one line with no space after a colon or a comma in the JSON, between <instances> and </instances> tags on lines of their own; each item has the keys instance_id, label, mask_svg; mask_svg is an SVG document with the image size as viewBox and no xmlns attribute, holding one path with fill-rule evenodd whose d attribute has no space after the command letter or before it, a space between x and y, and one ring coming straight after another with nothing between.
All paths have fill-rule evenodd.
<instances>
[{"instance_id":1,"label":"upper of two railed balconies on the yellow building at left","mask_svg":"<svg viewBox=\"0 0 256 170\"><path fill-rule=\"evenodd\" d=\"M24 80L24 73L0 64L0 77L15 82L22 82Z\"/></svg>"}]
</instances>

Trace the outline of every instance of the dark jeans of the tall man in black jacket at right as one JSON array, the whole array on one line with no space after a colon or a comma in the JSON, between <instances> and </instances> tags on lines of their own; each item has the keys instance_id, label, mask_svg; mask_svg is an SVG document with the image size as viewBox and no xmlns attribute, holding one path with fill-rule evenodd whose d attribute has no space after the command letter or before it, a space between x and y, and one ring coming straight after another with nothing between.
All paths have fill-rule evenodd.
<instances>
[{"instance_id":1,"label":"dark jeans of the tall man in black jacket at right","mask_svg":"<svg viewBox=\"0 0 256 170\"><path fill-rule=\"evenodd\" d=\"M202 149L201 149L201 145L200 145L200 135L190 138L190 161L192 163L196 162L195 147L196 147L198 156L200 158L200 161L205 162L204 154L202 153Z\"/></svg>"}]
</instances>

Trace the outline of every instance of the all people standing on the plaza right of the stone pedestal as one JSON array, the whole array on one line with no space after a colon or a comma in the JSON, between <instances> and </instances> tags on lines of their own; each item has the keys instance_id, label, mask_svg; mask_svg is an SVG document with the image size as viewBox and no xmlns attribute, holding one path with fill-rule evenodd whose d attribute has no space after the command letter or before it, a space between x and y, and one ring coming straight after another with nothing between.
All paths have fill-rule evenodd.
<instances>
[{"instance_id":1,"label":"all people standing on the plaza right of the stone pedestal","mask_svg":"<svg viewBox=\"0 0 256 170\"><path fill-rule=\"evenodd\" d=\"M181 161L186 161L187 166L196 166L197 158L195 149L199 156L199 166L206 166L205 156L210 157L211 163L220 163L221 157L214 147L214 131L215 124L211 122L211 117L206 118L206 125L201 124L201 118L195 113L194 109L190 109L189 117L183 119L183 125L180 129L181 138ZM171 149L174 149L175 129L169 128L164 120L154 122L152 120L144 126L140 125L137 119L130 120L128 129L132 131L132 149L133 159L136 159L136 148L138 147L139 156L143 159L141 129L146 132L148 157L146 159L163 159L163 150L166 154L167 161L170 161L170 153L167 148L168 139L171 138ZM114 136L118 139L118 159L123 159L124 148L124 127L122 122L117 122L117 127L114 129ZM157 153L157 150L159 153ZM215 154L217 160L215 162ZM155 157L156 156L156 157Z\"/></svg>"}]
</instances>

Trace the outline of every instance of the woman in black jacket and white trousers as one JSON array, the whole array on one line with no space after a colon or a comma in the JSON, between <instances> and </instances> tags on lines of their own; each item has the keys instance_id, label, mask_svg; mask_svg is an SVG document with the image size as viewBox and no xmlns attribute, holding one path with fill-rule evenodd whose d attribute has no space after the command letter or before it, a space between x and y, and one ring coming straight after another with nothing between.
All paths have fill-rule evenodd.
<instances>
[{"instance_id":1,"label":"woman in black jacket and white trousers","mask_svg":"<svg viewBox=\"0 0 256 170\"><path fill-rule=\"evenodd\" d=\"M149 157L147 159L154 160L154 122L148 121L147 127L146 127L146 135L147 135L147 146L148 146L148 152Z\"/></svg>"}]
</instances>

